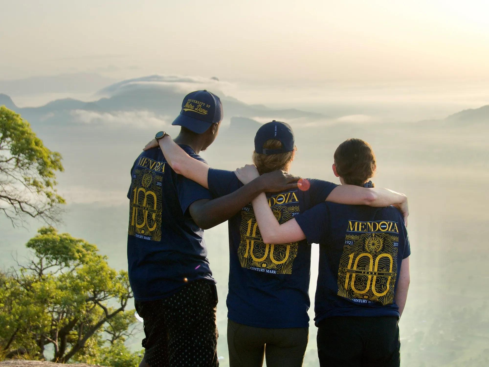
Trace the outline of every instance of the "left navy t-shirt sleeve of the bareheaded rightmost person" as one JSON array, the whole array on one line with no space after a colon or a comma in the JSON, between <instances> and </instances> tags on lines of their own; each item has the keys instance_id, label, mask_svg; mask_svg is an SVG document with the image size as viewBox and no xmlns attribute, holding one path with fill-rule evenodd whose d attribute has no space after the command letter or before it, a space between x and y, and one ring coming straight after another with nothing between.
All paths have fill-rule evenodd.
<instances>
[{"instance_id":1,"label":"left navy t-shirt sleeve of the bareheaded rightmost person","mask_svg":"<svg viewBox=\"0 0 489 367\"><path fill-rule=\"evenodd\" d=\"M326 203L318 204L294 218L309 244L323 242L330 229L330 209Z\"/></svg>"}]
</instances>

